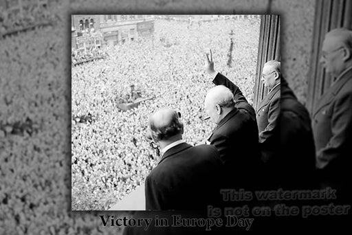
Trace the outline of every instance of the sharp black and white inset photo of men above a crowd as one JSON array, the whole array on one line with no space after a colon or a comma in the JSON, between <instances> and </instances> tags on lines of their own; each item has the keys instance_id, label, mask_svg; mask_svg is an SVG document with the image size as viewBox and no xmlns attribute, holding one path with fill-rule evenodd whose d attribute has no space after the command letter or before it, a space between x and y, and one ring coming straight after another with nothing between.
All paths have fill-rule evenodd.
<instances>
[{"instance_id":1,"label":"sharp black and white inset photo of men above a crowd","mask_svg":"<svg viewBox=\"0 0 352 235\"><path fill-rule=\"evenodd\" d=\"M260 15L72 15L72 210L190 210L219 197L232 153L259 161L259 138L271 135L268 120L257 130L254 108L264 117L265 92L280 94L278 61L257 76L260 43L270 38L261 52L279 58L278 25ZM223 126L229 118L236 124ZM251 163L241 157L243 172Z\"/></svg>"}]
</instances>

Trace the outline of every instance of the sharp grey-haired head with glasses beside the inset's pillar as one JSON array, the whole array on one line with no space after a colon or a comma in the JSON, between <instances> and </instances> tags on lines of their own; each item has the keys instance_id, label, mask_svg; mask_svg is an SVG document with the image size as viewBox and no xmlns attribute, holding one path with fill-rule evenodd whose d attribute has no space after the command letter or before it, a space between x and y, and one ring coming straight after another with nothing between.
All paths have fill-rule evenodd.
<instances>
[{"instance_id":1,"label":"sharp grey-haired head with glasses beside the inset's pillar","mask_svg":"<svg viewBox=\"0 0 352 235\"><path fill-rule=\"evenodd\" d=\"M273 89L281 78L281 62L278 60L270 60L265 63L262 71L261 81L263 81L264 87Z\"/></svg>"}]
</instances>

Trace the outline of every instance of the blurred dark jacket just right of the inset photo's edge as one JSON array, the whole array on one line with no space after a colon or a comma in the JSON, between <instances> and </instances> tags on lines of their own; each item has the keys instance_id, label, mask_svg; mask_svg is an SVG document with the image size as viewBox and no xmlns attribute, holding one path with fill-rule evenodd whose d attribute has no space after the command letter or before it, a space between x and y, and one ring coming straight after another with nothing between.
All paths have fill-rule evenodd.
<instances>
[{"instance_id":1,"label":"blurred dark jacket just right of the inset photo's edge","mask_svg":"<svg viewBox=\"0 0 352 235\"><path fill-rule=\"evenodd\" d=\"M311 119L292 89L281 78L281 150L277 159L279 186L284 189L316 188L315 147ZM306 203L306 202L305 202Z\"/></svg>"}]
</instances>

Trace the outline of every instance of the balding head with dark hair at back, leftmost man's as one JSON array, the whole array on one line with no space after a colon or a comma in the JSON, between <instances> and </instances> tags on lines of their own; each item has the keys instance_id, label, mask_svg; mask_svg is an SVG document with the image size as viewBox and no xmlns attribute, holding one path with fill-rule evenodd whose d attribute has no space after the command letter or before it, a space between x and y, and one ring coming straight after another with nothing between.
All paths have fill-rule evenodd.
<instances>
[{"instance_id":1,"label":"balding head with dark hair at back, leftmost man's","mask_svg":"<svg viewBox=\"0 0 352 235\"><path fill-rule=\"evenodd\" d=\"M181 137L184 124L179 120L179 113L173 109L159 109L148 120L148 127L155 142L167 141L173 137Z\"/></svg>"}]
</instances>

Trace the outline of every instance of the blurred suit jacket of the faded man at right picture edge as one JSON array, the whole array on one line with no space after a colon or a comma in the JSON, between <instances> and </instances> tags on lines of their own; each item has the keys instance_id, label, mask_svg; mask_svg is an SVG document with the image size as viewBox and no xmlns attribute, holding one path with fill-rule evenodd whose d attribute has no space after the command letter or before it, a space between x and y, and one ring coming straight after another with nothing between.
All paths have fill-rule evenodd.
<instances>
[{"instance_id":1,"label":"blurred suit jacket of the faded man at right picture edge","mask_svg":"<svg viewBox=\"0 0 352 235\"><path fill-rule=\"evenodd\" d=\"M352 68L320 98L313 113L316 167L333 175L351 171Z\"/></svg>"}]
</instances>

